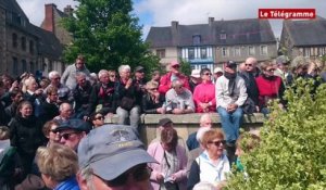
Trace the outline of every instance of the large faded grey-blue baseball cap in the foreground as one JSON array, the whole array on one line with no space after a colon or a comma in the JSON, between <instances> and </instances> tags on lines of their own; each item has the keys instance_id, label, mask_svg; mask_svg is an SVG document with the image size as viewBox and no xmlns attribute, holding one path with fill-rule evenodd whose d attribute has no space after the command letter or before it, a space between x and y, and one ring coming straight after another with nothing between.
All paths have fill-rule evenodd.
<instances>
[{"instance_id":1,"label":"large faded grey-blue baseball cap in the foreground","mask_svg":"<svg viewBox=\"0 0 326 190\"><path fill-rule=\"evenodd\" d=\"M130 126L103 125L91 130L78 145L79 167L89 166L95 175L104 180L115 179L129 168L145 163L156 161L147 153Z\"/></svg>"}]
</instances>

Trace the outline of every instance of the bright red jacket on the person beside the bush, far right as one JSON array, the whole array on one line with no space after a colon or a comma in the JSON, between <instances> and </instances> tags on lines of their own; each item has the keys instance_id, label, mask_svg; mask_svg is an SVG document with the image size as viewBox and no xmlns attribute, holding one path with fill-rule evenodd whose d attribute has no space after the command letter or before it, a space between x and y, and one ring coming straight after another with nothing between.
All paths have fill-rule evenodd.
<instances>
[{"instance_id":1,"label":"bright red jacket on the person beside the bush, far right","mask_svg":"<svg viewBox=\"0 0 326 190\"><path fill-rule=\"evenodd\" d=\"M269 99L281 98L284 92L281 78L274 76L273 79L266 79L262 75L255 78L255 83L259 89L259 104L260 106L266 106Z\"/></svg>"}]
</instances>

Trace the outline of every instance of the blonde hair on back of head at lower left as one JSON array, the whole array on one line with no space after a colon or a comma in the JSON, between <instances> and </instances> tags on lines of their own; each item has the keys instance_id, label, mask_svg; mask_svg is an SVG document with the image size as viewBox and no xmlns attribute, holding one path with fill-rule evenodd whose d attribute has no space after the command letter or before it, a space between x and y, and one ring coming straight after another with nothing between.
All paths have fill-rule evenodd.
<instances>
[{"instance_id":1,"label":"blonde hair on back of head at lower left","mask_svg":"<svg viewBox=\"0 0 326 190\"><path fill-rule=\"evenodd\" d=\"M78 170L76 152L62 144L38 148L36 157L40 173L58 182L75 176Z\"/></svg>"}]
</instances>

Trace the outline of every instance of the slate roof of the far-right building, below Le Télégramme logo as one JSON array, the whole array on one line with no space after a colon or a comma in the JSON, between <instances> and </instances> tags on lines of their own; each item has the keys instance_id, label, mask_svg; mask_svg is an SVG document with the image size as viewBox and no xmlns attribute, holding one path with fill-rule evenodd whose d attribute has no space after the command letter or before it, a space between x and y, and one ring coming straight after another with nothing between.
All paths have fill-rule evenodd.
<instances>
[{"instance_id":1,"label":"slate roof of the far-right building, below Le T\u00e9l\u00e9gramme logo","mask_svg":"<svg viewBox=\"0 0 326 190\"><path fill-rule=\"evenodd\" d=\"M323 17L311 21L285 21L293 46L325 46L326 20Z\"/></svg>"}]
</instances>

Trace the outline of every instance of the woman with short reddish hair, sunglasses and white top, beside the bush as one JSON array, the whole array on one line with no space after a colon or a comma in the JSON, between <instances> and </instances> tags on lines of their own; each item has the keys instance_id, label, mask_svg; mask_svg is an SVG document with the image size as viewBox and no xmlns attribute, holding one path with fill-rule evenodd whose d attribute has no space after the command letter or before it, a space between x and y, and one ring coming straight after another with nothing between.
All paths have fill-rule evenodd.
<instances>
[{"instance_id":1,"label":"woman with short reddish hair, sunglasses and white top, beside the bush","mask_svg":"<svg viewBox=\"0 0 326 190\"><path fill-rule=\"evenodd\" d=\"M224 134L221 129L211 129L202 137L204 151L196 159L190 168L187 189L192 189L200 181L211 182L221 188L226 174L230 172L227 156L224 154Z\"/></svg>"}]
</instances>

